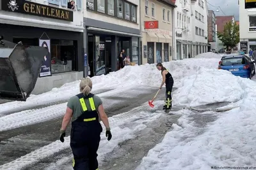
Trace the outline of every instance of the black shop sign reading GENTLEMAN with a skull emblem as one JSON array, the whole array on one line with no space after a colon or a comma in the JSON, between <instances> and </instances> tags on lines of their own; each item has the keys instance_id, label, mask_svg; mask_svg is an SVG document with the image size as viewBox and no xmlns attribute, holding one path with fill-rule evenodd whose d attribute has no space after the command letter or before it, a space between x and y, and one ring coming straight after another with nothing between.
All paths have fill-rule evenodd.
<instances>
[{"instance_id":1,"label":"black shop sign reading GENTLEMAN with a skull emblem","mask_svg":"<svg viewBox=\"0 0 256 170\"><path fill-rule=\"evenodd\" d=\"M73 11L24 0L1 0L2 10L73 21Z\"/></svg>"}]
</instances>

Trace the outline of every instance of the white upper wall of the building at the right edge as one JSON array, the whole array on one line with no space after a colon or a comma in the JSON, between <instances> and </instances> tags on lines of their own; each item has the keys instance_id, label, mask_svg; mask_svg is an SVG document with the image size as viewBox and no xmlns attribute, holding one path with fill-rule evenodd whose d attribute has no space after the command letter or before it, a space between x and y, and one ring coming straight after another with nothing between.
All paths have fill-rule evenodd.
<instances>
[{"instance_id":1,"label":"white upper wall of the building at the right edge","mask_svg":"<svg viewBox=\"0 0 256 170\"><path fill-rule=\"evenodd\" d=\"M239 31L240 39L256 39L256 31L249 32L249 16L256 15L256 8L245 9L244 0L239 1ZM241 40L243 41L243 40Z\"/></svg>"}]
</instances>

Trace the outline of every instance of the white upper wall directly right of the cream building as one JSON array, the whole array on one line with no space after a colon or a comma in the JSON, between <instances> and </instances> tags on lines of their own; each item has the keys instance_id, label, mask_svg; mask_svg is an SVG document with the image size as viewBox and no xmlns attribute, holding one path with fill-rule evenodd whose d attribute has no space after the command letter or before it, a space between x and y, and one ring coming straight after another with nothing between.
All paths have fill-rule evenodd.
<instances>
[{"instance_id":1,"label":"white upper wall directly right of the cream building","mask_svg":"<svg viewBox=\"0 0 256 170\"><path fill-rule=\"evenodd\" d=\"M190 3L190 1L187 0L186 4L184 5L184 0L177 0L175 4L177 5L177 8L175 8L175 11L174 11L175 32L177 32L178 34L182 33L182 38L177 37L176 34L175 34L175 39L184 39L184 40L187 40L187 41L193 41L193 33L194 32L193 32L193 29L192 29L192 25L193 25L192 18L193 17L191 17L191 3ZM182 10L182 8L188 8L189 11L184 11L184 10ZM186 17L189 17L189 25L188 25L188 30L189 31L182 31L182 22L181 22L181 24L180 24L181 26L180 26L179 25L180 18L179 18L179 20L177 19L178 12L181 13L181 14L185 14Z\"/></svg>"}]
</instances>

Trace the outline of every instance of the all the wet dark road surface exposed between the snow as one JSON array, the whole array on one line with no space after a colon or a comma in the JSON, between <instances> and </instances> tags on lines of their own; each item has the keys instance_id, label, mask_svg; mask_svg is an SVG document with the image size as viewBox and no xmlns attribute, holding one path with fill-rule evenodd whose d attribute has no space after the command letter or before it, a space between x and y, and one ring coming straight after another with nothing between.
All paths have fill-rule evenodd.
<instances>
[{"instance_id":1,"label":"all the wet dark road surface exposed between the snow","mask_svg":"<svg viewBox=\"0 0 256 170\"><path fill-rule=\"evenodd\" d=\"M141 90L142 89L143 87L141 87ZM102 101L105 105L109 105L109 107L106 107L106 113L108 117L112 117L113 115L131 111L132 108L146 103L154 97L156 90L157 89L148 89L147 92L134 94L132 99L131 97L125 97L127 93L118 93L109 97L103 97ZM164 96L164 90L161 90L157 99L164 99ZM113 104L113 101L118 101L118 103ZM221 113L212 110L227 104L228 103L216 103L190 108L193 114L189 115L189 118L193 120L195 126L199 128L195 131L193 136L195 137L204 133L205 127L217 120L221 115ZM173 111L182 109L183 108L173 108ZM138 110L138 112L139 111L140 110ZM146 129L135 134L136 138L119 143L113 152L108 153L108 156L104 158L99 169L136 169L141 159L147 155L148 151L156 146L157 143L161 142L166 132L172 131L172 124L177 124L177 119L181 116L165 113L162 108L155 108L152 111L161 111L163 115L157 120L154 120L151 124L147 124ZM205 111L207 111L207 113ZM0 132L0 166L58 140L61 122L62 117L59 117L51 121ZM70 126L68 126L67 129L67 136L68 135L70 135ZM184 136L184 140L186 140L186 138L188 138L188 136ZM55 164L61 159L67 158L67 161L63 162L60 167L54 167L54 170L68 170L71 167L70 157L72 157L70 148L60 150L60 152L56 152L35 164L30 164L24 169L40 170L47 169L47 167L51 169L51 164Z\"/></svg>"}]
</instances>

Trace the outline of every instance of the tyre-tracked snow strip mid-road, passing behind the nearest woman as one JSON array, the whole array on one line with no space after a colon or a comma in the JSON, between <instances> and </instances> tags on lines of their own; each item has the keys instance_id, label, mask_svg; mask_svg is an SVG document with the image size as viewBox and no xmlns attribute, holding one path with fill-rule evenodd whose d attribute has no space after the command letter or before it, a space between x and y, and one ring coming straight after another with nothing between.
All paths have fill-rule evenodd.
<instances>
[{"instance_id":1,"label":"tyre-tracked snow strip mid-road, passing behind the nearest woman","mask_svg":"<svg viewBox=\"0 0 256 170\"><path fill-rule=\"evenodd\" d=\"M155 107L161 106L163 101L155 101ZM100 146L98 150L98 160L99 164L107 153L112 152L113 149L118 146L118 143L122 143L125 140L135 138L134 134L142 131L147 127L147 124L150 122L154 122L159 117L161 117L162 113L152 113L150 112L152 108L148 107L148 103L139 106L138 108L134 108L131 111L126 113L122 113L119 115L115 115L109 118L109 124L111 125L111 132L113 138L111 141L108 141L105 136L105 127L102 124L102 134L100 136ZM125 126L124 126L125 125ZM24 167L28 167L31 164L35 164L46 157L53 155L56 152L60 152L61 150L65 150L70 147L70 136L65 138L65 142L61 143L59 140L55 141L49 145L46 145L38 150L35 150L27 155L20 157L19 159L13 160L7 164L0 166L0 169L4 170L18 170ZM63 158L67 160L66 158ZM71 160L70 166L71 166ZM62 162L61 160L59 162ZM54 166L61 166L61 165L51 165L51 168L54 169ZM63 167L64 168L64 167Z\"/></svg>"}]
</instances>

